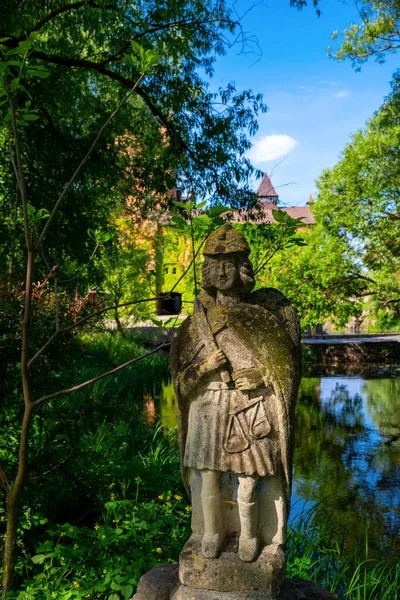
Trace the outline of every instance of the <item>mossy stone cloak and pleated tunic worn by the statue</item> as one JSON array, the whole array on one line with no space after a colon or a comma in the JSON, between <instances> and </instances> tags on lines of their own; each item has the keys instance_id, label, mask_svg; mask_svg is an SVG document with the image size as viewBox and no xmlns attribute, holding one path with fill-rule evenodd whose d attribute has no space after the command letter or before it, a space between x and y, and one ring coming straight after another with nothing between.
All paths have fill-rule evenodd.
<instances>
[{"instance_id":1,"label":"mossy stone cloak and pleated tunic worn by the statue","mask_svg":"<svg viewBox=\"0 0 400 600\"><path fill-rule=\"evenodd\" d=\"M258 476L262 482L260 514L263 501L267 512L279 505L282 514L275 528L282 528L289 511L294 405L301 370L297 316L288 300L272 288L253 292L233 307L216 306L205 293L199 300L231 375L240 368L258 369L262 379L256 389L243 394L233 383L223 382L218 372L200 378L199 365L215 346L207 347L196 315L181 325L171 348L171 368L179 408L183 481L193 496L200 485L196 472L226 473L231 485L223 488L225 492L230 488L231 495L225 500L234 507L237 476ZM189 394L185 394L187 389ZM201 502L193 497L192 501L194 513L201 512ZM193 520L194 529L197 522L201 533L201 515L194 514ZM231 521L228 529L235 530L238 520ZM265 543L274 535L270 530L265 533Z\"/></svg>"}]
</instances>

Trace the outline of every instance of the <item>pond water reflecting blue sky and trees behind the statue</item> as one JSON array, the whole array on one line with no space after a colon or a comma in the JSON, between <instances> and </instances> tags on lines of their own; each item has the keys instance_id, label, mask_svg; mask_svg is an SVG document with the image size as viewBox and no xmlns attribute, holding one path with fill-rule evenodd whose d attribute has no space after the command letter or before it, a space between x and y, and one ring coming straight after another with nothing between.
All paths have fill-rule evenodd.
<instances>
[{"instance_id":1,"label":"pond water reflecting blue sky and trees behind the statue","mask_svg":"<svg viewBox=\"0 0 400 600\"><path fill-rule=\"evenodd\" d=\"M161 421L177 423L171 384ZM400 555L400 376L304 377L296 406L291 518L330 507L354 541Z\"/></svg>"}]
</instances>

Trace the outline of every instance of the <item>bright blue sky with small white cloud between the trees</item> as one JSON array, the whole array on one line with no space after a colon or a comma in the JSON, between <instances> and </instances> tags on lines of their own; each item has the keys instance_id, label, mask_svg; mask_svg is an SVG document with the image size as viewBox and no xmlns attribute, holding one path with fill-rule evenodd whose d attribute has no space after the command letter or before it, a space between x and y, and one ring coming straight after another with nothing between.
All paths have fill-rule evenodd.
<instances>
[{"instance_id":1,"label":"bright blue sky with small white cloud between the trees","mask_svg":"<svg viewBox=\"0 0 400 600\"><path fill-rule=\"evenodd\" d=\"M243 14L252 4L238 0L235 7ZM382 104L399 64L396 55L384 65L370 60L357 73L350 62L329 59L326 47L332 31L342 31L359 18L353 0L322 0L321 9L317 18L312 7L298 12L289 0L254 6L243 26L257 37L262 56L240 54L233 47L219 59L211 83L215 89L234 81L238 90L264 94L269 111L261 116L253 138L253 162L273 172L280 201L288 206L305 204L310 192L315 195L316 178L337 162L351 133ZM267 136L275 137L265 140ZM274 157L285 150L278 166L282 157Z\"/></svg>"}]
</instances>

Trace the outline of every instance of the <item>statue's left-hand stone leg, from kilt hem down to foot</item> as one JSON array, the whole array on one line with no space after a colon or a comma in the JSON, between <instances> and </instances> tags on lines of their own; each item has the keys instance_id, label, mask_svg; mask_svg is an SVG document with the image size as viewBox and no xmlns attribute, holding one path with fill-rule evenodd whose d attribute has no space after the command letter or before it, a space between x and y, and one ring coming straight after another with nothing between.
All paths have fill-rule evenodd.
<instances>
[{"instance_id":1,"label":"statue's left-hand stone leg, from kilt hem down to foot","mask_svg":"<svg viewBox=\"0 0 400 600\"><path fill-rule=\"evenodd\" d=\"M204 516L202 552L206 558L217 558L225 539L219 476L219 471L201 471L201 504Z\"/></svg>"}]
</instances>

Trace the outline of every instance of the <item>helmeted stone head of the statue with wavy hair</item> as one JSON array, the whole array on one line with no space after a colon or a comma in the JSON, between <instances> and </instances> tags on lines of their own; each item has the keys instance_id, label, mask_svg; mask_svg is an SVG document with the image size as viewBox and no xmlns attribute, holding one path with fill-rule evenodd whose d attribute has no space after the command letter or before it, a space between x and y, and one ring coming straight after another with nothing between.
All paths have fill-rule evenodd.
<instances>
[{"instance_id":1,"label":"helmeted stone head of the statue with wavy hair","mask_svg":"<svg viewBox=\"0 0 400 600\"><path fill-rule=\"evenodd\" d=\"M218 291L245 296L254 287L250 248L240 231L230 224L213 231L204 246L202 288L215 298Z\"/></svg>"}]
</instances>

